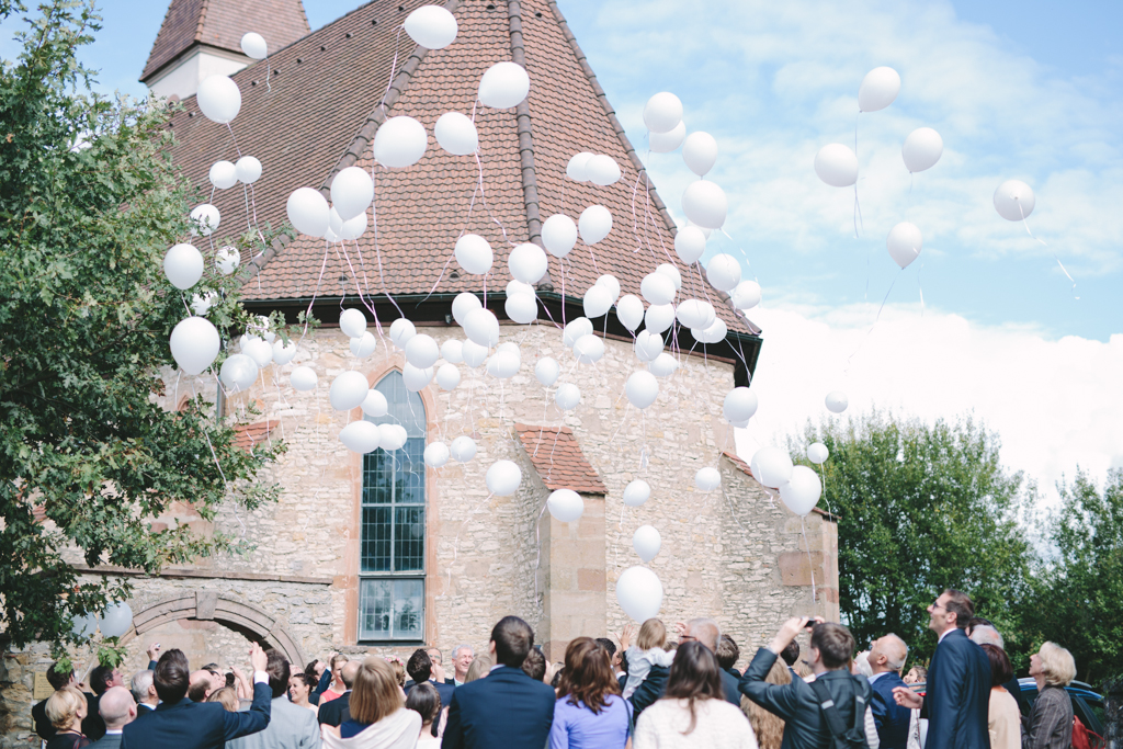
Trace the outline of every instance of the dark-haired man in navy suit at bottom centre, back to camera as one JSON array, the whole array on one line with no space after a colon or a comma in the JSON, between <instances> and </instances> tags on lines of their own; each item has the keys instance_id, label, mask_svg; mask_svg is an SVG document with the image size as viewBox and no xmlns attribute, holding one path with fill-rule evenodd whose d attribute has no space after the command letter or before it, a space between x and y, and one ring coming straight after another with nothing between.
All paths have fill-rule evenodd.
<instances>
[{"instance_id":1,"label":"dark-haired man in navy suit at bottom centre, back to camera","mask_svg":"<svg viewBox=\"0 0 1123 749\"><path fill-rule=\"evenodd\" d=\"M448 710L444 749L542 749L554 722L554 689L535 682L522 661L535 631L518 616L504 616L492 629L490 655L495 666L486 678L457 687Z\"/></svg>"}]
</instances>

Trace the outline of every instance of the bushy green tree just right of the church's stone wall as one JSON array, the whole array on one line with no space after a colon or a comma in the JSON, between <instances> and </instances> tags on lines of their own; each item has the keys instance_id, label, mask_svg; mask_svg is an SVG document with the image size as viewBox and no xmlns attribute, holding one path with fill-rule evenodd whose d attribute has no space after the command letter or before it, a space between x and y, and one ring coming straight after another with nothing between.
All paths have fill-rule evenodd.
<instances>
[{"instance_id":1,"label":"bushy green tree just right of the church's stone wall","mask_svg":"<svg viewBox=\"0 0 1123 749\"><path fill-rule=\"evenodd\" d=\"M970 419L929 426L875 411L809 427L813 441L830 449L819 506L839 518L840 609L859 647L895 632L910 660L931 658L925 608L953 587L1017 656L1031 555L1017 524L1022 476L1002 467L998 438ZM803 450L791 445L806 465Z\"/></svg>"}]
</instances>

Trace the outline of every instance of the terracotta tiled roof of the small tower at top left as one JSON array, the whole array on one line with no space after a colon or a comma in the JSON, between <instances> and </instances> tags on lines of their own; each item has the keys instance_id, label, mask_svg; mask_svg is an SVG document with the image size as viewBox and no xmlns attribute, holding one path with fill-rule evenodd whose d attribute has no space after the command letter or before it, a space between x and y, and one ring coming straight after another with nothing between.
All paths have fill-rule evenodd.
<instances>
[{"instance_id":1,"label":"terracotta tiled roof of the small tower at top left","mask_svg":"<svg viewBox=\"0 0 1123 749\"><path fill-rule=\"evenodd\" d=\"M257 31L272 53L309 30L301 0L172 0L140 80L195 44L241 54L241 36Z\"/></svg>"}]
</instances>

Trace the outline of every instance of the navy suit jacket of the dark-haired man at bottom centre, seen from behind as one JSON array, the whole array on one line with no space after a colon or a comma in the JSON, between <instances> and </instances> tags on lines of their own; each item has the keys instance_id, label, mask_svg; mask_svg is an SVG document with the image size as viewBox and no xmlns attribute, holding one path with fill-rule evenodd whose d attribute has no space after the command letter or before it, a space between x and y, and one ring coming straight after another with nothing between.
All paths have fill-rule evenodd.
<instances>
[{"instance_id":1,"label":"navy suit jacket of the dark-haired man at bottom centre, seen from behind","mask_svg":"<svg viewBox=\"0 0 1123 749\"><path fill-rule=\"evenodd\" d=\"M542 749L554 723L554 689L521 668L496 668L457 687L442 749Z\"/></svg>"}]
</instances>

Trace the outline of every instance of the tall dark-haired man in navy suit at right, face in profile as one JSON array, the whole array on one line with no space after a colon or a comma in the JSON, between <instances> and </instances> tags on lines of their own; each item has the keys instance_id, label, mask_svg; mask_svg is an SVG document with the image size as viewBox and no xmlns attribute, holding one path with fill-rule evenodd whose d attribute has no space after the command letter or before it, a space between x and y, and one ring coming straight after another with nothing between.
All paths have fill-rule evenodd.
<instances>
[{"instance_id":1,"label":"tall dark-haired man in navy suit at right, face in profile","mask_svg":"<svg viewBox=\"0 0 1123 749\"><path fill-rule=\"evenodd\" d=\"M947 590L928 613L928 627L940 638L928 667L928 694L898 686L893 696L928 719L926 749L990 749L990 660L964 632L975 604L967 594Z\"/></svg>"}]
</instances>

